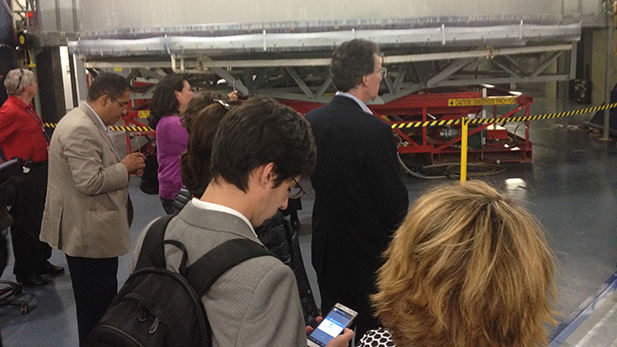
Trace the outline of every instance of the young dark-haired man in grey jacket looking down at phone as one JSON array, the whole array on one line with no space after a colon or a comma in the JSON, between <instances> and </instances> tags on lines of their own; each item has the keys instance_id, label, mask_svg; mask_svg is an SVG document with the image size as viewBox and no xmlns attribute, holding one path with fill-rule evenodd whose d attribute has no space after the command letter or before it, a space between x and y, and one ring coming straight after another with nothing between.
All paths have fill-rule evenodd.
<instances>
[{"instance_id":1,"label":"young dark-haired man in grey jacket looking down at phone","mask_svg":"<svg viewBox=\"0 0 617 347\"><path fill-rule=\"evenodd\" d=\"M254 227L285 208L298 180L315 165L310 127L297 112L270 98L255 97L233 107L214 139L212 180L169 222L165 239L178 240L189 265L231 239L261 244ZM142 233L133 257L141 249ZM182 252L166 248L176 270ZM296 280L275 257L252 258L225 272L201 301L212 328L213 346L307 345ZM329 346L347 346L349 330Z\"/></svg>"}]
</instances>

